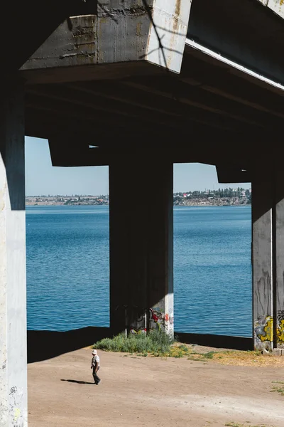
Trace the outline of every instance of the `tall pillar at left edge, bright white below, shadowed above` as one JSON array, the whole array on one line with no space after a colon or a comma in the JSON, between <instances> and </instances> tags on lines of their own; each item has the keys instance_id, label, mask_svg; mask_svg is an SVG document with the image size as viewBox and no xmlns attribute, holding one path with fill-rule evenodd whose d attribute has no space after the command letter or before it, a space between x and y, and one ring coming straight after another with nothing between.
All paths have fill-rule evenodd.
<instances>
[{"instance_id":1,"label":"tall pillar at left edge, bright white below, shadowed above","mask_svg":"<svg viewBox=\"0 0 284 427\"><path fill-rule=\"evenodd\" d=\"M23 86L0 100L0 426L27 426Z\"/></svg>"}]
</instances>

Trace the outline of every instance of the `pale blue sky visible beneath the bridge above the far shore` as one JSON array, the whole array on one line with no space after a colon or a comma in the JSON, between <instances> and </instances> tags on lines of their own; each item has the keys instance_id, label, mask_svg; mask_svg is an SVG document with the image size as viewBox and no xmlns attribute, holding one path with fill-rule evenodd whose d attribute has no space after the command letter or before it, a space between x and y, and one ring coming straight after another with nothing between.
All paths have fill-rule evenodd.
<instances>
[{"instance_id":1,"label":"pale blue sky visible beneath the bridge above the far shore","mask_svg":"<svg viewBox=\"0 0 284 427\"><path fill-rule=\"evenodd\" d=\"M26 137L26 195L109 194L108 167L53 167L48 141ZM219 184L214 166L200 163L174 165L174 192L218 189L251 184Z\"/></svg>"}]
</instances>

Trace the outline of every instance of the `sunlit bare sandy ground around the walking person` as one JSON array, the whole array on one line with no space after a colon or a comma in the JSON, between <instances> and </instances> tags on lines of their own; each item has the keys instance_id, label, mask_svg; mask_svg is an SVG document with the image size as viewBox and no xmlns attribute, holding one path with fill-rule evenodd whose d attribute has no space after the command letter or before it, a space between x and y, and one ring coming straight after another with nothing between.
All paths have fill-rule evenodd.
<instances>
[{"instance_id":1,"label":"sunlit bare sandy ground around the walking person","mask_svg":"<svg viewBox=\"0 0 284 427\"><path fill-rule=\"evenodd\" d=\"M99 356L99 386L90 349L28 365L29 427L284 426L284 396L271 393L284 381L282 357L261 367Z\"/></svg>"}]
</instances>

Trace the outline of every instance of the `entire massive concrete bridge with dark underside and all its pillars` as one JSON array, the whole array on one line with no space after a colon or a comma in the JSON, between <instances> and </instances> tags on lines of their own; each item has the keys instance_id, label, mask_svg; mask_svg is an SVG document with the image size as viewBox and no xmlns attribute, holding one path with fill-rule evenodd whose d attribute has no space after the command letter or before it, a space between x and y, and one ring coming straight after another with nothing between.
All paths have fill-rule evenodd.
<instances>
[{"instance_id":1,"label":"entire massive concrete bridge with dark underside and all its pillars","mask_svg":"<svg viewBox=\"0 0 284 427\"><path fill-rule=\"evenodd\" d=\"M27 425L24 135L48 139L55 166L109 165L113 332L173 333L173 163L251 181L254 346L284 349L283 5L212 3L28 1L18 33L4 22L1 427Z\"/></svg>"}]
</instances>

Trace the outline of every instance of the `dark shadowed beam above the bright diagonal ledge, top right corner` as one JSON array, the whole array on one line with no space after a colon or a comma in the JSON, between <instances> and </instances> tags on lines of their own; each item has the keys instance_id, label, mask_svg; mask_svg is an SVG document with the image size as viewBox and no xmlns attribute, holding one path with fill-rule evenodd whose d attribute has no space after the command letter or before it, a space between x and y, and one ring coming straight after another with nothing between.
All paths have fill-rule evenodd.
<instances>
[{"instance_id":1,"label":"dark shadowed beam above the bright diagonal ledge, top right corner","mask_svg":"<svg viewBox=\"0 0 284 427\"><path fill-rule=\"evenodd\" d=\"M270 3L271 7L275 4L275 10L280 5L284 10L282 0L268 0ZM283 36L284 22L258 1L192 2L189 41L213 51L220 60L232 60L275 83L284 83Z\"/></svg>"}]
</instances>

